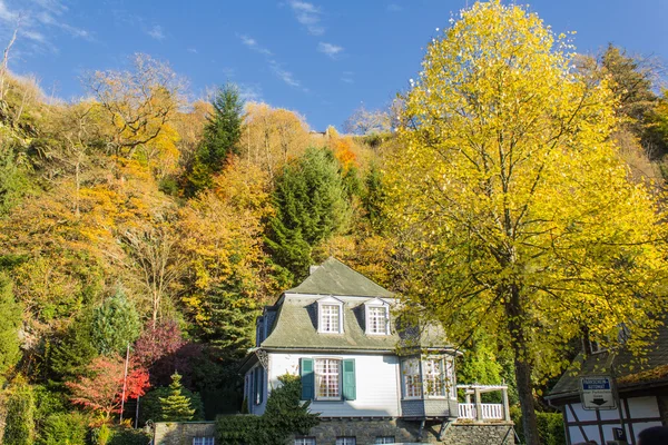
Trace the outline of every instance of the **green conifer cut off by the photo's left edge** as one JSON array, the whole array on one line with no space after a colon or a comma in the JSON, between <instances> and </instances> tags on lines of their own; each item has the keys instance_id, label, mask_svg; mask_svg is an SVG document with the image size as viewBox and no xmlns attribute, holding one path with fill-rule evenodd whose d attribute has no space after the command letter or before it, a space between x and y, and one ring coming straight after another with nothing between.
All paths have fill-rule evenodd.
<instances>
[{"instance_id":1,"label":"green conifer cut off by the photo's left edge","mask_svg":"<svg viewBox=\"0 0 668 445\"><path fill-rule=\"evenodd\" d=\"M21 306L14 300L11 280L0 274L0 386L3 374L21 358L20 327Z\"/></svg>"}]
</instances>

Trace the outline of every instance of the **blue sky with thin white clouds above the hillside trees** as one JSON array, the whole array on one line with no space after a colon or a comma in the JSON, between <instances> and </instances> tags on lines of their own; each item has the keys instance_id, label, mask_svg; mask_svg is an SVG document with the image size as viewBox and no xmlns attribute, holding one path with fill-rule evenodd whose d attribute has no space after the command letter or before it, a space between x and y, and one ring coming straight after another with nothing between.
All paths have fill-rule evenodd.
<instances>
[{"instance_id":1,"label":"blue sky with thin white clouds above the hillside trees","mask_svg":"<svg viewBox=\"0 0 668 445\"><path fill-rule=\"evenodd\" d=\"M252 100L302 113L313 129L361 103L387 105L416 77L424 46L469 0L0 0L0 47L19 16L10 69L48 95L86 93L89 70L146 52L188 79L193 98L233 81ZM525 3L525 2L522 2ZM578 51L608 42L668 60L668 0L534 0Z\"/></svg>"}]
</instances>

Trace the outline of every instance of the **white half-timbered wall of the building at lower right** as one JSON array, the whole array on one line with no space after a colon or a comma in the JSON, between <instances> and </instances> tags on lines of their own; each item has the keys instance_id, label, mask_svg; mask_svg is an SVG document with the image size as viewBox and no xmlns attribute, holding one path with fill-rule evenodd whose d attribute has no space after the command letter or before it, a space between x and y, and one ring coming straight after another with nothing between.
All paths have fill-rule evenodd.
<instances>
[{"instance_id":1,"label":"white half-timbered wall of the building at lower right","mask_svg":"<svg viewBox=\"0 0 668 445\"><path fill-rule=\"evenodd\" d=\"M647 397L629 397L627 399L629 411L627 413L623 399L621 400L621 412L625 419L626 434L629 443L631 442L631 433L629 428L629 421L633 426L633 436L638 441L638 433L650 426L660 426L660 413L657 398L655 396ZM571 412L572 408L572 412ZM573 415L574 412L574 415ZM613 441L612 428L619 428L619 411L608 409L599 411L599 417L597 417L596 411L588 411L582 408L582 404L576 403L570 404L570 407L564 406L566 421L567 422L597 422L596 425L582 425L581 428L587 434L587 439L597 441L598 443L606 443L606 441ZM600 418L600 421L599 421ZM635 422L635 419L647 419L647 422ZM655 421L656 419L656 421ZM615 422L617 421L617 422ZM601 423L603 437L600 435L598 423ZM579 426L568 426L570 434L570 443L577 444L584 442L586 438L582 435L582 431Z\"/></svg>"}]
</instances>

